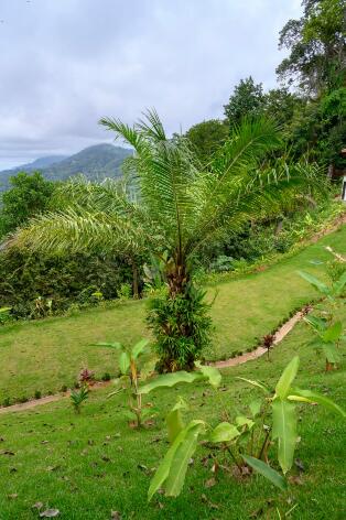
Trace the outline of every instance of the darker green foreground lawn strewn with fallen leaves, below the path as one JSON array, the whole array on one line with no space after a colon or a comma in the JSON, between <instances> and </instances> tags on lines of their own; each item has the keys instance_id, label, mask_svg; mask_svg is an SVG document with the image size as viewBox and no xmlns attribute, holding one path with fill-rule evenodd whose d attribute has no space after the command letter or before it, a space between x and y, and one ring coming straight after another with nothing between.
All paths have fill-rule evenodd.
<instances>
[{"instance_id":1,"label":"darker green foreground lawn strewn with fallen leaves, below the path","mask_svg":"<svg viewBox=\"0 0 346 520\"><path fill-rule=\"evenodd\" d=\"M345 306L340 317L345 323ZM313 405L300 407L296 457L305 470L288 491L279 491L260 476L239 483L225 472L219 473L214 487L206 487L213 476L212 461L205 459L207 451L199 447L182 495L176 499L158 495L147 503L151 470L167 448L163 418L177 396L191 405L187 419L205 419L215 425L224 408L230 413L239 411L256 394L236 376L274 384L298 353L298 386L325 393L346 407L346 356L337 371L325 373L324 359L304 346L310 334L299 324L274 348L270 360L263 357L224 370L226 391L214 392L198 383L152 393L150 401L158 409L158 418L149 430L129 429L122 398L107 400L106 389L91 394L80 416L74 414L67 398L28 412L0 415L0 519L37 518L32 505L41 501L57 508L58 518L67 520L107 520L111 510L119 511L122 520L277 519L275 507L286 512L293 506L292 513L282 518L344 520L345 422ZM37 368L37 378L40 373Z\"/></svg>"}]
</instances>

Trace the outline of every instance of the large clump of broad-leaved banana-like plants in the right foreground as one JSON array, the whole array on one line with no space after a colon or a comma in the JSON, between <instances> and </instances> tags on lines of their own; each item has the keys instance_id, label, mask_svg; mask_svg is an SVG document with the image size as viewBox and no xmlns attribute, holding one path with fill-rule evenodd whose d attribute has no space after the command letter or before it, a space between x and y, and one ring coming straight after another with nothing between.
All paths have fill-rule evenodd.
<instances>
[{"instance_id":1,"label":"large clump of broad-leaved banana-like plants in the right foreground","mask_svg":"<svg viewBox=\"0 0 346 520\"><path fill-rule=\"evenodd\" d=\"M179 401L166 420L171 446L150 483L148 499L151 500L159 489L163 489L169 497L181 492L188 462L202 435L228 453L241 474L247 468L247 473L258 473L280 489L286 489L285 475L292 467L298 442L296 403L318 403L346 418L344 410L326 397L292 387L298 368L296 356L285 367L272 391L259 381L238 378L259 389L262 400L250 403L248 415L236 416L234 423L221 422L212 431L203 420L193 420L185 425L182 419L185 403ZM216 386L219 381L220 378L215 381ZM269 465L268 446L271 441L277 443L277 458L283 475Z\"/></svg>"}]
</instances>

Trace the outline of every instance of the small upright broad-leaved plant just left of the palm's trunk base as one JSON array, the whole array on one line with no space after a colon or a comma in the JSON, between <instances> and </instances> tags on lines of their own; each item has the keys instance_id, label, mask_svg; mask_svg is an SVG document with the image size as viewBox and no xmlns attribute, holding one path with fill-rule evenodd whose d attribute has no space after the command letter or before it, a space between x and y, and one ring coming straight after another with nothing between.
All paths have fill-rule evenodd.
<instances>
[{"instance_id":1,"label":"small upright broad-leaved plant just left of the palm's trunk base","mask_svg":"<svg viewBox=\"0 0 346 520\"><path fill-rule=\"evenodd\" d=\"M151 414L149 407L143 407L142 394L139 392L139 380L141 370L138 360L145 353L149 340L141 339L132 347L127 347L119 342L113 343L98 343L97 346L111 348L119 354L119 370L120 377L115 380L117 390L109 393L109 398L116 396L123 390L129 392L129 415L133 421L134 427L143 425L144 419Z\"/></svg>"}]
</instances>

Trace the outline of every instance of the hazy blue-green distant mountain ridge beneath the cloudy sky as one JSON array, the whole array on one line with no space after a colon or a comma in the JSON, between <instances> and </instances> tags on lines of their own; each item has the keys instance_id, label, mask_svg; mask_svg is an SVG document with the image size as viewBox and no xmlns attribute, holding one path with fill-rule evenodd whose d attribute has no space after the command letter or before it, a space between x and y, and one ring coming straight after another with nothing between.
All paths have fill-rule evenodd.
<instances>
[{"instance_id":1,"label":"hazy blue-green distant mountain ridge beneath the cloudy sky","mask_svg":"<svg viewBox=\"0 0 346 520\"><path fill-rule=\"evenodd\" d=\"M50 181L66 181L83 174L90 181L101 181L106 177L120 177L122 161L132 151L121 147L102 143L85 148L74 155L51 155L40 158L29 164L0 172L0 192L10 187L10 177L19 172L40 171Z\"/></svg>"}]
</instances>

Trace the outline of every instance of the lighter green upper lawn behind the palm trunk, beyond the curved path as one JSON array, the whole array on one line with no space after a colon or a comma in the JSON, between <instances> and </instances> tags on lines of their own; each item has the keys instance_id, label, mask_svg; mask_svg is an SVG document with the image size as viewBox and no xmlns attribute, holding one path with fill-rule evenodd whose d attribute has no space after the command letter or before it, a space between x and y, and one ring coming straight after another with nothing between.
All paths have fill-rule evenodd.
<instances>
[{"instance_id":1,"label":"lighter green upper lawn behind the palm trunk, beyond the curved path","mask_svg":"<svg viewBox=\"0 0 346 520\"><path fill-rule=\"evenodd\" d=\"M221 359L236 350L245 351L275 328L292 308L314 297L314 290L295 271L321 271L310 261L329 259L323 248L326 245L345 253L346 226L267 271L210 286L209 299L217 291L212 308L216 329L214 349L207 357ZM131 344L142 336L150 337L144 316L145 302L127 302L0 328L0 403L4 398L31 398L35 390L46 394L63 384L69 387L83 367L95 370L98 378L105 372L113 375L113 353L90 344Z\"/></svg>"}]
</instances>

